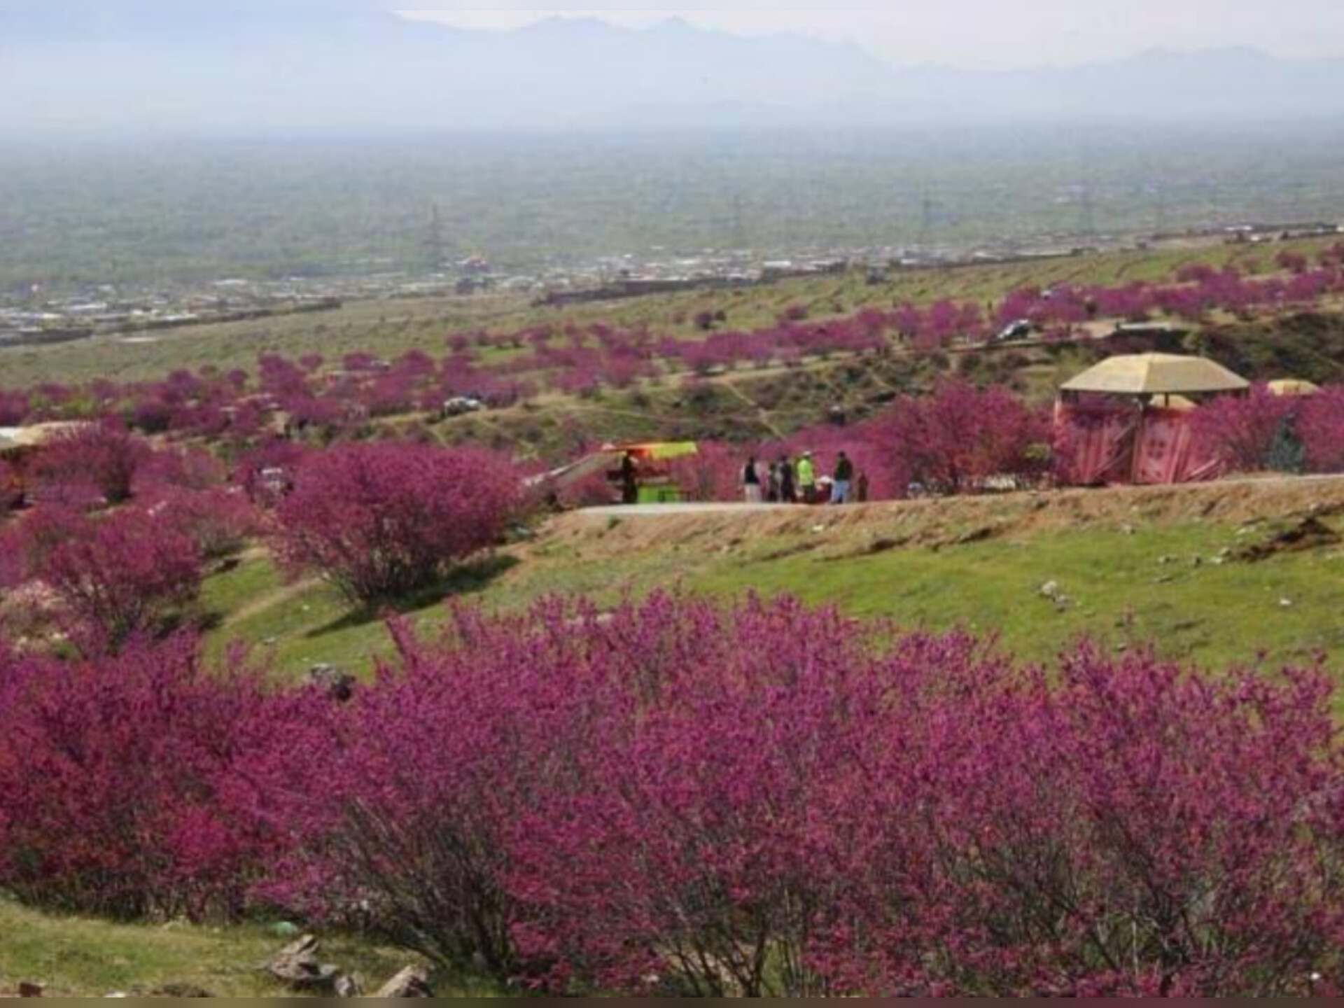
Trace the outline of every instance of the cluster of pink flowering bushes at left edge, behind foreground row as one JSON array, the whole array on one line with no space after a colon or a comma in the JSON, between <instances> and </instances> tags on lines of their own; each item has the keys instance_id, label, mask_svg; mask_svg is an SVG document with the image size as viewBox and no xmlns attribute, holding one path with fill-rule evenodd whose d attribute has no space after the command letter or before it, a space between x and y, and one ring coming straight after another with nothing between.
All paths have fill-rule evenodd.
<instances>
[{"instance_id":1,"label":"cluster of pink flowering bushes at left edge, behind foreground row","mask_svg":"<svg viewBox=\"0 0 1344 1008\"><path fill-rule=\"evenodd\" d=\"M259 517L200 450L153 450L114 426L55 438L26 465L36 503L0 526L0 613L24 634L117 650L191 616L206 563L237 554Z\"/></svg>"}]
</instances>

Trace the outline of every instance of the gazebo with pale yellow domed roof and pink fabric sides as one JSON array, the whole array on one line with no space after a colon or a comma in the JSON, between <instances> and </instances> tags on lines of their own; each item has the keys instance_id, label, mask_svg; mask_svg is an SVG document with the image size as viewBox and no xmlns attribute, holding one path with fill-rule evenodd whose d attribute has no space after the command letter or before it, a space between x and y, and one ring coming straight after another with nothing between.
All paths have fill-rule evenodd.
<instances>
[{"instance_id":1,"label":"gazebo with pale yellow domed roof and pink fabric sides","mask_svg":"<svg viewBox=\"0 0 1344 1008\"><path fill-rule=\"evenodd\" d=\"M1222 462L1198 444L1192 413L1250 382L1204 358L1140 353L1103 360L1060 387L1055 444L1068 482L1177 484L1212 480Z\"/></svg>"}]
</instances>

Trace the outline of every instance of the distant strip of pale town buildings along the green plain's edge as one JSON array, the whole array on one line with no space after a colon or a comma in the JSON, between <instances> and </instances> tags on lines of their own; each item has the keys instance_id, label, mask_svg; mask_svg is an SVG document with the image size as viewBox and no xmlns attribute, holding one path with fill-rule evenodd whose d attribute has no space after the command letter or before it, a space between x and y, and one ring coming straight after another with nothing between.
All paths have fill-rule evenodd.
<instances>
[{"instance_id":1,"label":"distant strip of pale town buildings along the green plain's edge","mask_svg":"<svg viewBox=\"0 0 1344 1008\"><path fill-rule=\"evenodd\" d=\"M538 304L573 304L692 289L724 289L778 282L790 277L867 270L883 282L892 270L1017 262L1087 255L1126 247L1328 237L1344 223L1243 223L1159 235L1043 235L1034 241L954 247L863 247L778 250L703 250L652 255L609 255L590 263L526 270L496 267L484 255L445 262L439 269L374 269L344 277L285 280L220 278L207 284L155 289L94 284L51 293L40 285L0 293L0 348L70 343L93 336L152 341L155 333L188 325L246 321L281 314L325 312L349 301L531 297Z\"/></svg>"}]
</instances>

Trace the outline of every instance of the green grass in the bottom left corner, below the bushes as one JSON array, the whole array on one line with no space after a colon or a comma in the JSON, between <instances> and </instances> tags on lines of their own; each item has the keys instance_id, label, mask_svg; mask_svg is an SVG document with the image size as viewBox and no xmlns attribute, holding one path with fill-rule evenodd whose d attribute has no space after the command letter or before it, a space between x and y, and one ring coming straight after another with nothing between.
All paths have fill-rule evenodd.
<instances>
[{"instance_id":1,"label":"green grass in the bottom left corner, below the bushes","mask_svg":"<svg viewBox=\"0 0 1344 1008\"><path fill-rule=\"evenodd\" d=\"M340 935L321 935L323 960L378 989L415 957ZM102 997L149 993L191 984L220 997L282 997L262 972L285 945L261 925L159 927L78 917L50 917L0 899L0 993L20 982L42 984L50 996ZM492 996L487 988L444 984L441 993Z\"/></svg>"}]
</instances>

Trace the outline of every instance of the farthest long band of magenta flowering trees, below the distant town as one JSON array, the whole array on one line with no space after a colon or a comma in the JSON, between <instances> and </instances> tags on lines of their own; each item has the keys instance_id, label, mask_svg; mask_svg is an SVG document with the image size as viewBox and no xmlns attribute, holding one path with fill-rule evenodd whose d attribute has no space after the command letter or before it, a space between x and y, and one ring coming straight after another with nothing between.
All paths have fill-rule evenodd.
<instances>
[{"instance_id":1,"label":"farthest long band of magenta flowering trees, below the distant town","mask_svg":"<svg viewBox=\"0 0 1344 1008\"><path fill-rule=\"evenodd\" d=\"M655 333L645 325L554 323L497 335L452 333L446 355L438 359L423 351L390 362L370 353L349 353L339 362L267 353L251 375L207 367L195 374L177 371L163 382L48 383L23 392L0 391L0 426L103 417L145 434L207 437L239 446L281 426L348 437L382 417L437 413L454 396L511 406L543 390L586 396L672 375L792 367L806 358L887 352L896 345L907 353L935 353L982 345L1020 320L1031 321L1046 339L1068 340L1097 319L1196 323L1305 310L1344 294L1344 250L1339 247L1316 261L1286 253L1277 266L1278 273L1261 276L1231 266L1187 266L1165 282L1023 288L989 309L941 300L870 306L818 320L805 306L792 306L754 331L723 328L727 314L708 310L696 320L695 339Z\"/></svg>"}]
</instances>

